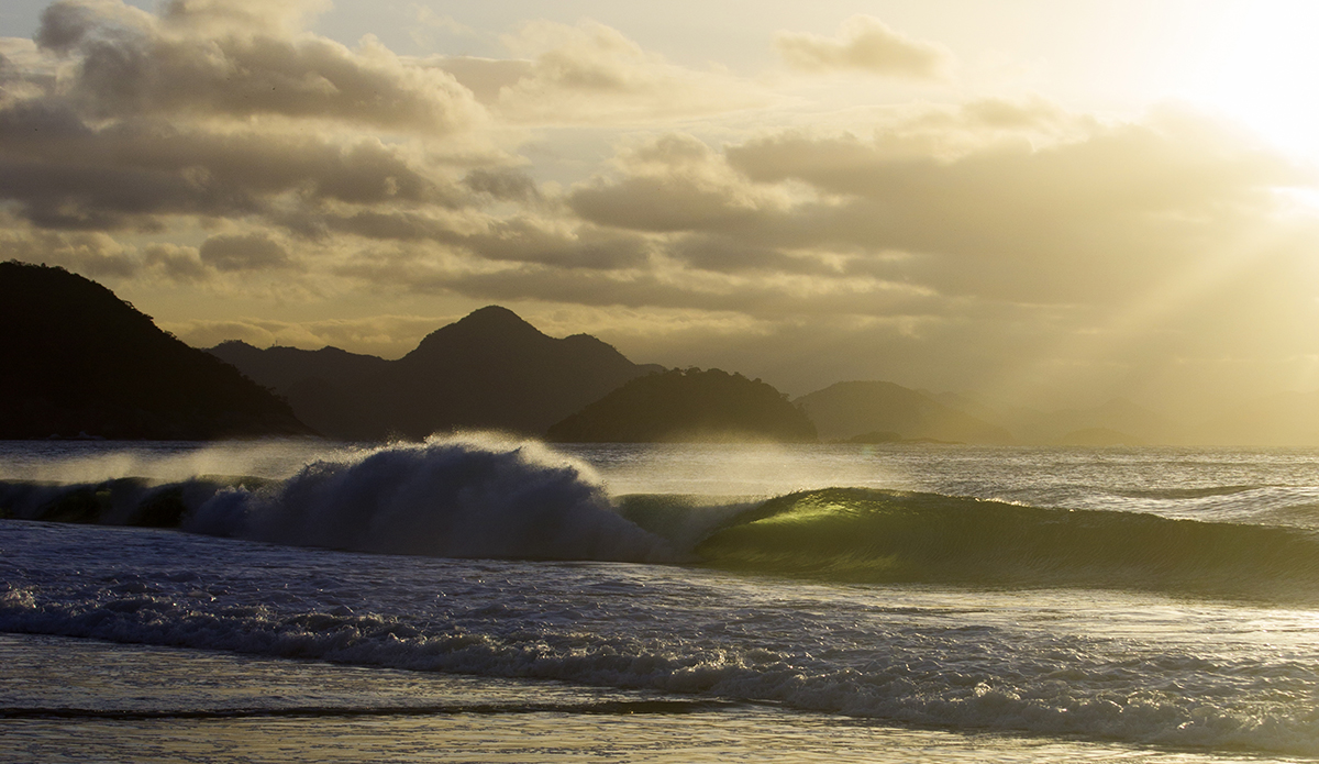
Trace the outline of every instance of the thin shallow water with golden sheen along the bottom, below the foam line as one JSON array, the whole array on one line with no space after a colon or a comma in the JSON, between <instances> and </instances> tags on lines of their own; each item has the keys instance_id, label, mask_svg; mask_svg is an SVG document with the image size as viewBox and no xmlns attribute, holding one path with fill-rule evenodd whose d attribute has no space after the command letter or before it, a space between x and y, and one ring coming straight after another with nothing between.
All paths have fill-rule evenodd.
<instances>
[{"instance_id":1,"label":"thin shallow water with golden sheen along the bottom, below the foam line","mask_svg":"<svg viewBox=\"0 0 1319 764\"><path fill-rule=\"evenodd\" d=\"M665 713L662 703L646 705L657 697L649 693L368 672L61 637L3 636L0 661L7 666L8 687L0 713L0 760L7 761L1262 760L1079 740L963 735L748 703L716 710L698 705L692 711ZM623 711L579 710L609 702ZM561 709L543 710L554 705ZM463 710L471 707L479 710ZM660 711L629 711L638 707ZM12 713L38 709L51 713L21 718ZM102 715L69 714L78 709ZM115 710L153 710L161 715L115 718ZM232 715L189 715L198 710ZM178 715L170 716L171 711Z\"/></svg>"}]
</instances>

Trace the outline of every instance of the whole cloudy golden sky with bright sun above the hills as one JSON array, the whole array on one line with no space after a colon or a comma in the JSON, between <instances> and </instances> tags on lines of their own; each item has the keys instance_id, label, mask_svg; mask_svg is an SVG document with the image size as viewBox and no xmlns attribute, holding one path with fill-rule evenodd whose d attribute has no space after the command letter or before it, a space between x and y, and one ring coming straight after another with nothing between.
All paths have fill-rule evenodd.
<instances>
[{"instance_id":1,"label":"whole cloudy golden sky with bright sun above the hills","mask_svg":"<svg viewBox=\"0 0 1319 764\"><path fill-rule=\"evenodd\" d=\"M1319 388L1319 4L7 0L0 257L208 347L484 305L791 395Z\"/></svg>"}]
</instances>

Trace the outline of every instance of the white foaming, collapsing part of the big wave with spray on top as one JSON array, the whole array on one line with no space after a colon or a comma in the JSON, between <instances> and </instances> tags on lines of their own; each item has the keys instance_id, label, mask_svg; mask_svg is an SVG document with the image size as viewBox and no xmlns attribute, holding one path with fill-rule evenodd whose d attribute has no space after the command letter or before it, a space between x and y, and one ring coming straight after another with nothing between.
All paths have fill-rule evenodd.
<instances>
[{"instance_id":1,"label":"white foaming, collapsing part of the big wave with spray on top","mask_svg":"<svg viewBox=\"0 0 1319 764\"><path fill-rule=\"evenodd\" d=\"M318 461L264 490L218 492L182 528L390 554L662 561L658 537L619 516L590 466L496 435L394 443Z\"/></svg>"}]
</instances>

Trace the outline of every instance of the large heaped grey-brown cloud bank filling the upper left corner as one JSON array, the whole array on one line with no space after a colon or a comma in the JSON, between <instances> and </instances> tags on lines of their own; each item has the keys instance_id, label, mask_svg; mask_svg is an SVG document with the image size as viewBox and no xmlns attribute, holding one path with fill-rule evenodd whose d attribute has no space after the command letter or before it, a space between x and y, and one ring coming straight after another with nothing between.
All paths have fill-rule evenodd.
<instances>
[{"instance_id":1,"label":"large heaped grey-brown cloud bank filling the upper left corner","mask_svg":"<svg viewBox=\"0 0 1319 764\"><path fill-rule=\"evenodd\" d=\"M471 94L379 44L299 32L318 7L51 4L36 42L0 46L0 203L42 228L131 234L488 203L445 168L448 150L463 169L505 161L470 129L485 119ZM423 148L434 136L445 149Z\"/></svg>"}]
</instances>

